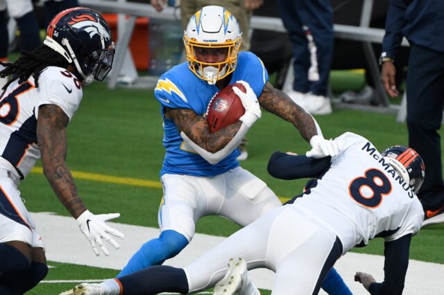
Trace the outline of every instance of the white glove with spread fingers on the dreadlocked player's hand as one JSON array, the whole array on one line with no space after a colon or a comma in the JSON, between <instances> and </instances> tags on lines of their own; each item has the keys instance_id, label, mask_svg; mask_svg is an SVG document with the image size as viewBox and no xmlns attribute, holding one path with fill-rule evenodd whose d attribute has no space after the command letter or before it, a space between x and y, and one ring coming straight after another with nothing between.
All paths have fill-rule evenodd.
<instances>
[{"instance_id":1,"label":"white glove with spread fingers on the dreadlocked player's hand","mask_svg":"<svg viewBox=\"0 0 444 295\"><path fill-rule=\"evenodd\" d=\"M110 255L110 252L108 249L106 249L105 244L103 244L102 238L112 244L112 247L115 249L119 249L119 244L117 244L117 242L114 241L114 239L111 238L108 233L111 233L112 235L115 235L121 239L124 238L123 233L105 224L105 221L112 220L119 216L120 213L94 215L87 210L76 219L78 226L80 226L80 231L82 231L85 237L89 240L89 243L91 244L94 253L96 253L96 256L100 255L97 244L99 244L99 247L101 247L106 256Z\"/></svg>"}]
</instances>

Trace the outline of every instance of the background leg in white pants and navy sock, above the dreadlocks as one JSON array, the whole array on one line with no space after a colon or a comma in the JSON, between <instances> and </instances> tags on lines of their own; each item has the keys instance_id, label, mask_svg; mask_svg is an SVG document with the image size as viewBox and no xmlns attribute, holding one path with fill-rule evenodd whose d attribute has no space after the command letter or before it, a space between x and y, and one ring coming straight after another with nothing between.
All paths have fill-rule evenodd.
<instances>
[{"instance_id":1,"label":"background leg in white pants and navy sock, above the dreadlocks","mask_svg":"<svg viewBox=\"0 0 444 295\"><path fill-rule=\"evenodd\" d=\"M14 17L20 30L20 46L32 51L40 45L39 24L31 0L6 0L10 17Z\"/></svg>"}]
</instances>

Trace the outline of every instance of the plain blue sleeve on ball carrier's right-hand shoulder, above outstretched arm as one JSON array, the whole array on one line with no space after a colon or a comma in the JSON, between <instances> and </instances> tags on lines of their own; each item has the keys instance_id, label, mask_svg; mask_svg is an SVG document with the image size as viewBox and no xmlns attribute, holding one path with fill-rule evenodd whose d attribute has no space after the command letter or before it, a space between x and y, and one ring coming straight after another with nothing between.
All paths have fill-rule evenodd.
<instances>
[{"instance_id":1,"label":"plain blue sleeve on ball carrier's right-hand shoulder, above outstretched arm","mask_svg":"<svg viewBox=\"0 0 444 295\"><path fill-rule=\"evenodd\" d=\"M250 84L251 89L259 97L268 81L268 72L265 69L262 60L254 53L239 53L239 65L242 67L243 80Z\"/></svg>"}]
</instances>

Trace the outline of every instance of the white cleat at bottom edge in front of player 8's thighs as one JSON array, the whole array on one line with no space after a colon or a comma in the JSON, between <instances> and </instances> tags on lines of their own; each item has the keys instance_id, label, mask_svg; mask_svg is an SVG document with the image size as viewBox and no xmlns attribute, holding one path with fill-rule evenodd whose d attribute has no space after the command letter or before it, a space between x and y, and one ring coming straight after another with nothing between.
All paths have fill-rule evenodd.
<instances>
[{"instance_id":1,"label":"white cleat at bottom edge in front of player 8's thighs","mask_svg":"<svg viewBox=\"0 0 444 295\"><path fill-rule=\"evenodd\" d=\"M215 295L260 295L259 289L248 277L247 263L242 258L230 258L225 276L214 286Z\"/></svg>"}]
</instances>

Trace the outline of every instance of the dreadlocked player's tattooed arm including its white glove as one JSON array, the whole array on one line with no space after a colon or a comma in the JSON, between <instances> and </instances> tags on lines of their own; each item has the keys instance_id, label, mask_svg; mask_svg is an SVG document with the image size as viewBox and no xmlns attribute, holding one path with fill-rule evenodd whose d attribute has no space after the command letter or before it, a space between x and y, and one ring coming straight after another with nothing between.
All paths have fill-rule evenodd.
<instances>
[{"instance_id":1,"label":"dreadlocked player's tattooed arm including its white glove","mask_svg":"<svg viewBox=\"0 0 444 295\"><path fill-rule=\"evenodd\" d=\"M94 215L90 213L77 193L76 184L65 159L67 157L67 132L69 118L57 105L41 105L37 119L37 143L42 156L43 173L60 202L76 218L92 249L99 255L96 244L109 255L102 238L116 249L119 244L108 233L123 238L123 234L105 224L106 220L119 217L119 213Z\"/></svg>"}]
</instances>

